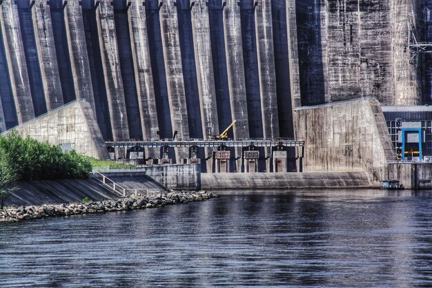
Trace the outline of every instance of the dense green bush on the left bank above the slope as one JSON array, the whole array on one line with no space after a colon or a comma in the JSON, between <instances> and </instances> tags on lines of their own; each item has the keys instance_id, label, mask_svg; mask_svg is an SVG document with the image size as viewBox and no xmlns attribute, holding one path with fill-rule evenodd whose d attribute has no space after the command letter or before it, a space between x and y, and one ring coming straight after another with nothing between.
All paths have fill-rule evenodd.
<instances>
[{"instance_id":1,"label":"dense green bush on the left bank above the slope","mask_svg":"<svg viewBox=\"0 0 432 288\"><path fill-rule=\"evenodd\" d=\"M23 138L17 131L0 136L0 151L19 180L87 178L92 171L90 161L75 151L63 153L59 146Z\"/></svg>"}]
</instances>

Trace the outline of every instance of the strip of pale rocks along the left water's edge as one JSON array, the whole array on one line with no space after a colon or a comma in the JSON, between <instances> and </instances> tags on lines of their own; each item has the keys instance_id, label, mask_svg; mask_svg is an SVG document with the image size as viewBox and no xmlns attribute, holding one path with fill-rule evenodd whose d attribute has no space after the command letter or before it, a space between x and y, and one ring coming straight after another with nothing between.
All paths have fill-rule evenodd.
<instances>
[{"instance_id":1,"label":"strip of pale rocks along the left water's edge","mask_svg":"<svg viewBox=\"0 0 432 288\"><path fill-rule=\"evenodd\" d=\"M42 206L26 206L0 210L0 222L19 222L55 216L68 216L90 213L106 213L110 211L127 211L169 204L184 204L215 198L215 193L207 191L173 191L155 196L130 195L126 198L108 199L95 202L71 204L44 204Z\"/></svg>"}]
</instances>

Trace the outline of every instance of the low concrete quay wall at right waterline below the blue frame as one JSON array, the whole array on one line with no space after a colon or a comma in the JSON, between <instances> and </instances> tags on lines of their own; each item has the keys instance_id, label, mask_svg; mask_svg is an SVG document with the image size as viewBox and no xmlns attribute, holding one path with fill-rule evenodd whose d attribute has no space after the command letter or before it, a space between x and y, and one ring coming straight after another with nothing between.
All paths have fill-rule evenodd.
<instances>
[{"instance_id":1,"label":"low concrete quay wall at right waterline below the blue frame","mask_svg":"<svg viewBox=\"0 0 432 288\"><path fill-rule=\"evenodd\" d=\"M432 189L432 163L391 162L389 180L399 180L405 189Z\"/></svg>"}]
</instances>

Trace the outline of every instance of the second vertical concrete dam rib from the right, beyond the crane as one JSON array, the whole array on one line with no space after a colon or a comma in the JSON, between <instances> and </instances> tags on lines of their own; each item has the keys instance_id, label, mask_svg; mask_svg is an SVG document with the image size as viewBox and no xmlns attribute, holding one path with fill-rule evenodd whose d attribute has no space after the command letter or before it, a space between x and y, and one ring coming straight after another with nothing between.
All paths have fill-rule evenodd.
<instances>
[{"instance_id":1,"label":"second vertical concrete dam rib from the right, beyond the crane","mask_svg":"<svg viewBox=\"0 0 432 288\"><path fill-rule=\"evenodd\" d=\"M255 3L257 4L255 7L255 31L262 124L264 138L270 139L279 137L271 0L255 0Z\"/></svg>"}]
</instances>

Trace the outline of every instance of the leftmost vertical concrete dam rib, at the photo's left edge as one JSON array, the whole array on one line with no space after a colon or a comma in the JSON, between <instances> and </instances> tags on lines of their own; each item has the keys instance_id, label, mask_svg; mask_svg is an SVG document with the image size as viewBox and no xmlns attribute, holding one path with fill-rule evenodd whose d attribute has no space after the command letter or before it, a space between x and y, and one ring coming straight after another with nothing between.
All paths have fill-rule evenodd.
<instances>
[{"instance_id":1,"label":"leftmost vertical concrete dam rib, at the photo's left edge","mask_svg":"<svg viewBox=\"0 0 432 288\"><path fill-rule=\"evenodd\" d=\"M12 95L14 95L15 107L17 108L18 122L21 124L34 118L35 110L30 93L18 10L11 0L4 0L1 3L0 22L10 82L12 84Z\"/></svg>"}]
</instances>

